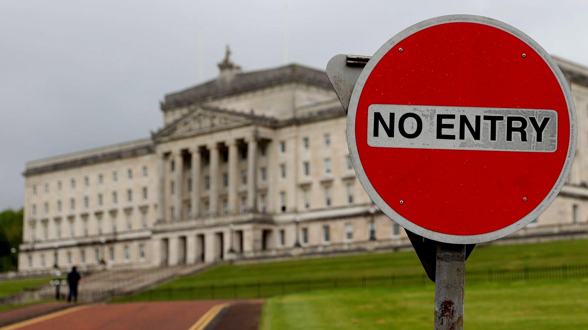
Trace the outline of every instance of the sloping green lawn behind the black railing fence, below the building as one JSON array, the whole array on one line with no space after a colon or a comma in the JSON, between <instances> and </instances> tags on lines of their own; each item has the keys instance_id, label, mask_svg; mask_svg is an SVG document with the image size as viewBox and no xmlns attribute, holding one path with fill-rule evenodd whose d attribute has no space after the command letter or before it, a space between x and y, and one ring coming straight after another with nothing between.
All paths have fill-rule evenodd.
<instances>
[{"instance_id":1,"label":"sloping green lawn behind the black railing fence, below the building","mask_svg":"<svg viewBox=\"0 0 588 330\"><path fill-rule=\"evenodd\" d=\"M588 264L588 240L476 247L467 270ZM220 265L159 288L424 273L415 252Z\"/></svg>"}]
</instances>

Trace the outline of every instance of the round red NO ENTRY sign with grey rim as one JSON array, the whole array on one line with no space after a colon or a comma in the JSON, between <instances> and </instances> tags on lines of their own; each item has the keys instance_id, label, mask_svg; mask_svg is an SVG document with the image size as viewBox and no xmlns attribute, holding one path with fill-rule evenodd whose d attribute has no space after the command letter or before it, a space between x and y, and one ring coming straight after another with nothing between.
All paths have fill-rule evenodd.
<instances>
[{"instance_id":1,"label":"round red NO ENTRY sign with grey rim","mask_svg":"<svg viewBox=\"0 0 588 330\"><path fill-rule=\"evenodd\" d=\"M410 26L353 88L348 143L374 203L445 243L495 240L554 200L576 149L570 86L531 38L489 18Z\"/></svg>"}]
</instances>

